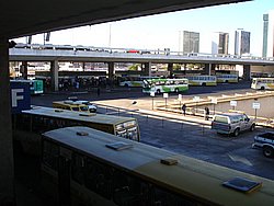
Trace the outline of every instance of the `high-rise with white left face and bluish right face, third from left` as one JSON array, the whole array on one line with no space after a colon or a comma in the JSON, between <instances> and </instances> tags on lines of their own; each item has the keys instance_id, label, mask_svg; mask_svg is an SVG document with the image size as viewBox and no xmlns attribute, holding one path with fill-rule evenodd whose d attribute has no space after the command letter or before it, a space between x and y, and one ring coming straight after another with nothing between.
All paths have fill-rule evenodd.
<instances>
[{"instance_id":1,"label":"high-rise with white left face and bluish right face, third from left","mask_svg":"<svg viewBox=\"0 0 274 206\"><path fill-rule=\"evenodd\" d=\"M238 28L235 32L235 55L250 54L250 32Z\"/></svg>"}]
</instances>

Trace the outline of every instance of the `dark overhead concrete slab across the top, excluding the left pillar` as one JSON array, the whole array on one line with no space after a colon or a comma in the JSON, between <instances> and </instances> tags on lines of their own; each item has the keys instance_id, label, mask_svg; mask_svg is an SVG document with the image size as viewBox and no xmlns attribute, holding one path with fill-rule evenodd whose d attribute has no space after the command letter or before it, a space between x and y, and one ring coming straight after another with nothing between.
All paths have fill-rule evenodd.
<instances>
[{"instance_id":1,"label":"dark overhead concrete slab across the top, excluding the left pillar","mask_svg":"<svg viewBox=\"0 0 274 206\"><path fill-rule=\"evenodd\" d=\"M0 38L249 0L13 0L0 3Z\"/></svg>"}]
</instances>

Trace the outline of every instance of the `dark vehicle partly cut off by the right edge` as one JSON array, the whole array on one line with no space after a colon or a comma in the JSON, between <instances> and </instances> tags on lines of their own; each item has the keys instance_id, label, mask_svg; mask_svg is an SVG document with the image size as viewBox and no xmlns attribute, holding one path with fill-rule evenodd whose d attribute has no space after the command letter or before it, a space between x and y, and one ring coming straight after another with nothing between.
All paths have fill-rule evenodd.
<instances>
[{"instance_id":1,"label":"dark vehicle partly cut off by the right edge","mask_svg":"<svg viewBox=\"0 0 274 206\"><path fill-rule=\"evenodd\" d=\"M274 156L274 133L267 131L254 137L252 148L262 148L263 154L267 158Z\"/></svg>"}]
</instances>

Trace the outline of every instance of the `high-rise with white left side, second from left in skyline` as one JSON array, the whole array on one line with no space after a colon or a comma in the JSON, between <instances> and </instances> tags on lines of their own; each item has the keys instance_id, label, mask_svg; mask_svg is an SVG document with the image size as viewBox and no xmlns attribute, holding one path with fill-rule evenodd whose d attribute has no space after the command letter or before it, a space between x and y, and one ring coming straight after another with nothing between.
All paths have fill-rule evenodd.
<instances>
[{"instance_id":1,"label":"high-rise with white left side, second from left in skyline","mask_svg":"<svg viewBox=\"0 0 274 206\"><path fill-rule=\"evenodd\" d=\"M228 55L229 34L216 32L213 34L212 54Z\"/></svg>"}]
</instances>

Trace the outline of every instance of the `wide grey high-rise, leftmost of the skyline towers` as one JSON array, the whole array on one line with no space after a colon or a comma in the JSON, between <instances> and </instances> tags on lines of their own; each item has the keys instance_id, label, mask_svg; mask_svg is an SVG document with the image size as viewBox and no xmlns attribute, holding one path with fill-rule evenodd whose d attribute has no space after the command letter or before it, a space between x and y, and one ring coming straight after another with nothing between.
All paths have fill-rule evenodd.
<instances>
[{"instance_id":1,"label":"wide grey high-rise, leftmost of the skyline towers","mask_svg":"<svg viewBox=\"0 0 274 206\"><path fill-rule=\"evenodd\" d=\"M181 50L183 53L198 53L199 33L183 31L183 36L182 36L180 32L179 52Z\"/></svg>"}]
</instances>

